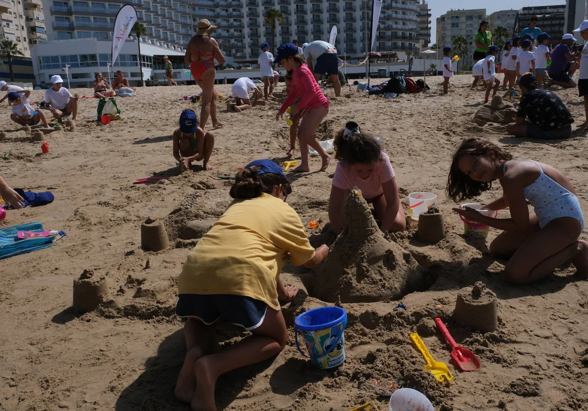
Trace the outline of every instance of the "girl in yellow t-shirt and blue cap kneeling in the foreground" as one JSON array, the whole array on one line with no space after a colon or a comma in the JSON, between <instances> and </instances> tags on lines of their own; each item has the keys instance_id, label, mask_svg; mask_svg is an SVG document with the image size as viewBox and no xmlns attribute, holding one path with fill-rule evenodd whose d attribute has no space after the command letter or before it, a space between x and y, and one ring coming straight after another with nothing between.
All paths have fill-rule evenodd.
<instances>
[{"instance_id":1,"label":"girl in yellow t-shirt and blue cap kneeling in the foreground","mask_svg":"<svg viewBox=\"0 0 588 411\"><path fill-rule=\"evenodd\" d=\"M235 200L190 252L178 278L176 314L186 318L186 359L176 396L194 410L216 411L216 379L230 370L278 355L288 342L280 303L295 297L279 274L294 265L316 267L329 252L312 248L288 204L292 188L271 160L248 164L235 176ZM216 352L218 319L252 335Z\"/></svg>"}]
</instances>

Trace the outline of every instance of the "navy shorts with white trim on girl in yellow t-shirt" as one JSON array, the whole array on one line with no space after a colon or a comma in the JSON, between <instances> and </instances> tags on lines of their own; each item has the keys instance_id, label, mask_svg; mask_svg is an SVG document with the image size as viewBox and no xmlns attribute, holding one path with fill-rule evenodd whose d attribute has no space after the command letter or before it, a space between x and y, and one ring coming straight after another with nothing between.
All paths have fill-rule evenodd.
<instances>
[{"instance_id":1,"label":"navy shorts with white trim on girl in yellow t-shirt","mask_svg":"<svg viewBox=\"0 0 588 411\"><path fill-rule=\"evenodd\" d=\"M176 315L181 318L196 318L206 325L214 324L222 318L251 331L262 325L267 309L265 302L243 295L180 294Z\"/></svg>"}]
</instances>

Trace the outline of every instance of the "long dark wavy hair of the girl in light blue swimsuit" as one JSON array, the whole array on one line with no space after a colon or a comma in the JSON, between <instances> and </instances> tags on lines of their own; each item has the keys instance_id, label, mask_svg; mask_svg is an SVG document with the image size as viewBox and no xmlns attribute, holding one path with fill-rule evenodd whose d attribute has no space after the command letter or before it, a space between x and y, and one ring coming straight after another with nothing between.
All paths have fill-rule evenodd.
<instances>
[{"instance_id":1,"label":"long dark wavy hair of the girl in light blue swimsuit","mask_svg":"<svg viewBox=\"0 0 588 411\"><path fill-rule=\"evenodd\" d=\"M492 187L492 181L476 181L462 173L457 164L466 154L497 160L512 160L513 158L509 153L500 150L500 147L488 140L476 137L463 140L453 154L449 176L447 177L447 187L445 188L447 197L456 202L479 196L482 191L489 190Z\"/></svg>"}]
</instances>

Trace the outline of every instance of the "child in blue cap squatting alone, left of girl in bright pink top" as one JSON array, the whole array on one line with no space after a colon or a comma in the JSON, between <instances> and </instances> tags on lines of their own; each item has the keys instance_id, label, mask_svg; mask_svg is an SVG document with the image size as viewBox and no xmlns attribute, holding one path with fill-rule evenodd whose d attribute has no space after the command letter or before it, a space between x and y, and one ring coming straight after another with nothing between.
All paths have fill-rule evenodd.
<instances>
[{"instance_id":1,"label":"child in blue cap squatting alone, left of girl in bright pink top","mask_svg":"<svg viewBox=\"0 0 588 411\"><path fill-rule=\"evenodd\" d=\"M192 109L180 114L180 127L173 132L173 157L182 161L188 169L192 161L202 161L205 170L212 170L210 164L215 134L198 127L198 117Z\"/></svg>"}]
</instances>

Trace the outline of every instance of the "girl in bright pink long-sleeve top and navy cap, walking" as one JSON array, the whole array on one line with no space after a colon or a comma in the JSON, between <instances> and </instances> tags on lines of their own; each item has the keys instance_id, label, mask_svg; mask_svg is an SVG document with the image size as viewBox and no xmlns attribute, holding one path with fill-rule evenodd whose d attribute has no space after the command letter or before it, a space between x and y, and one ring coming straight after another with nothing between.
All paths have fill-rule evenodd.
<instances>
[{"instance_id":1,"label":"girl in bright pink long-sleeve top and navy cap, walking","mask_svg":"<svg viewBox=\"0 0 588 411\"><path fill-rule=\"evenodd\" d=\"M323 160L320 171L327 169L331 159L331 156L326 153L319 141L315 139L316 129L329 112L329 100L323 95L312 72L306 67L304 61L304 57L299 55L298 48L292 43L279 46L278 56L274 60L274 63L280 63L286 70L292 70L290 93L282 107L280 107L276 120L283 116L288 107L292 107L290 112L292 117L305 111L298 128L298 142L302 160L300 161L300 166L293 170L295 173L310 171L308 164L309 146L318 151ZM296 97L300 99L298 103L295 103Z\"/></svg>"}]
</instances>

